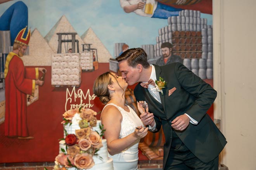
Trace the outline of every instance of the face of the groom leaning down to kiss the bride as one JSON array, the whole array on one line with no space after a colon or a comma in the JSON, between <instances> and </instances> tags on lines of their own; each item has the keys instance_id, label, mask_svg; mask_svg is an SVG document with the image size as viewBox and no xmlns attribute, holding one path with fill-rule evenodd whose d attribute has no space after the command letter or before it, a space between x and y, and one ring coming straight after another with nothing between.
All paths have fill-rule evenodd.
<instances>
[{"instance_id":1,"label":"face of the groom leaning down to kiss the bride","mask_svg":"<svg viewBox=\"0 0 256 170\"><path fill-rule=\"evenodd\" d=\"M138 69L129 66L126 60L119 62L119 71L121 71L122 78L125 79L128 85L139 82L140 73Z\"/></svg>"}]
</instances>

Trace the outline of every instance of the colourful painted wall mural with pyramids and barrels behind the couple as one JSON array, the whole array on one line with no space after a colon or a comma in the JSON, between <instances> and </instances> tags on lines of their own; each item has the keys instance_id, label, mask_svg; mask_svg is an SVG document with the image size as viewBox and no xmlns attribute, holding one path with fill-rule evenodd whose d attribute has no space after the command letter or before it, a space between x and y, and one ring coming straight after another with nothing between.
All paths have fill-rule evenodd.
<instances>
[{"instance_id":1,"label":"colourful painted wall mural with pyramids and barrels behind the couple","mask_svg":"<svg viewBox=\"0 0 256 170\"><path fill-rule=\"evenodd\" d=\"M0 163L53 162L62 114L82 106L99 119L93 82L118 72L128 48L213 84L212 0L0 0L0 23ZM126 102L137 110L134 87ZM163 133L150 135L139 147L161 160Z\"/></svg>"}]
</instances>

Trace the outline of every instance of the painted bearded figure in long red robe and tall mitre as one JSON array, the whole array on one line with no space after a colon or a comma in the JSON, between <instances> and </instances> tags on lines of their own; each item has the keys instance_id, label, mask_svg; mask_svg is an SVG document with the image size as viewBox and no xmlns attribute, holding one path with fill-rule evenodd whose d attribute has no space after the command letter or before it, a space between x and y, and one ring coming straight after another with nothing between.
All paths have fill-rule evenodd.
<instances>
[{"instance_id":1,"label":"painted bearded figure in long red robe and tall mitre","mask_svg":"<svg viewBox=\"0 0 256 170\"><path fill-rule=\"evenodd\" d=\"M5 63L5 136L19 139L33 139L29 136L27 126L26 96L34 95L35 86L43 85L39 80L39 71L45 68L25 68L22 57L30 39L30 29L22 29L14 40L13 51Z\"/></svg>"}]
</instances>

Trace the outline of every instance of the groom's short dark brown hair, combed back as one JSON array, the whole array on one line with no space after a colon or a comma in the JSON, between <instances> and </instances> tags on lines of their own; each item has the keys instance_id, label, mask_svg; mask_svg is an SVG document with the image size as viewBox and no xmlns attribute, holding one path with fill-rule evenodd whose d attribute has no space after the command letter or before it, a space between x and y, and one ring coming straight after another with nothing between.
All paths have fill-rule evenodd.
<instances>
[{"instance_id":1,"label":"groom's short dark brown hair, combed back","mask_svg":"<svg viewBox=\"0 0 256 170\"><path fill-rule=\"evenodd\" d=\"M142 48L131 48L123 52L116 61L120 62L126 60L127 64L135 68L138 64L141 64L144 68L149 68L147 62L147 54Z\"/></svg>"}]
</instances>

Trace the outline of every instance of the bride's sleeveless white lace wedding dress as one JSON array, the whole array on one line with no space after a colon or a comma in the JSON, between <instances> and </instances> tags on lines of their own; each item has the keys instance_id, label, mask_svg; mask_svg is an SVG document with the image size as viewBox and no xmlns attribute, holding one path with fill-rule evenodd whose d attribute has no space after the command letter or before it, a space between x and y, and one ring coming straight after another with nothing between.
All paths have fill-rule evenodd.
<instances>
[{"instance_id":1,"label":"bride's sleeveless white lace wedding dress","mask_svg":"<svg viewBox=\"0 0 256 170\"><path fill-rule=\"evenodd\" d=\"M126 112L123 108L113 103L107 105L113 105L117 107L123 116L119 139L124 138L125 136L128 136L129 134L133 133L137 126L143 126L142 121L130 106L127 105L130 109L130 112ZM123 150L121 153L118 153L116 155L109 155L109 157L113 159L114 170L138 170L139 141L140 139L131 143L131 145L125 150Z\"/></svg>"}]
</instances>

